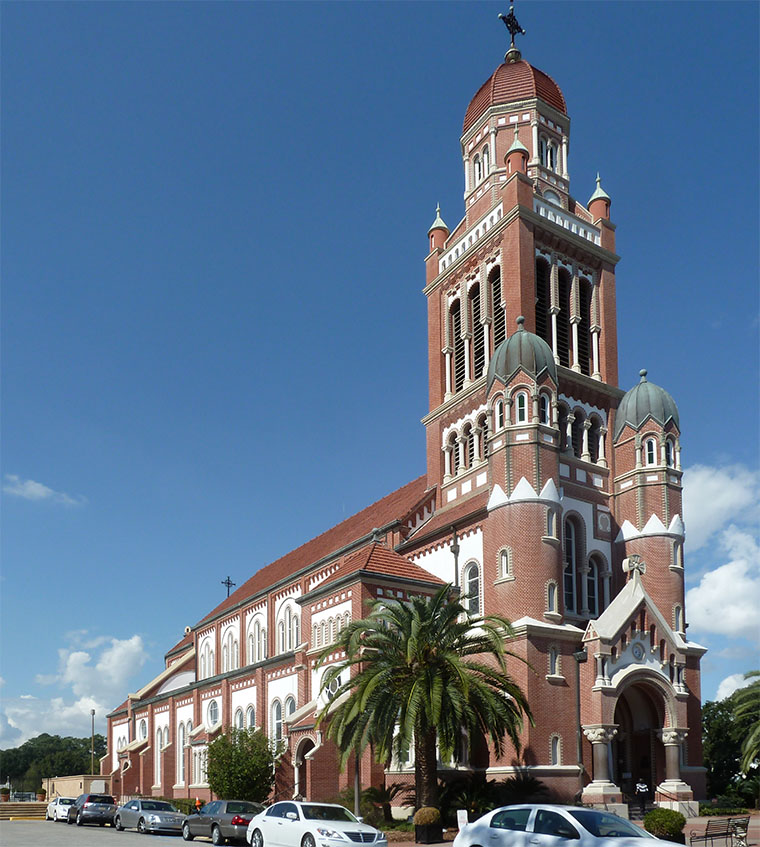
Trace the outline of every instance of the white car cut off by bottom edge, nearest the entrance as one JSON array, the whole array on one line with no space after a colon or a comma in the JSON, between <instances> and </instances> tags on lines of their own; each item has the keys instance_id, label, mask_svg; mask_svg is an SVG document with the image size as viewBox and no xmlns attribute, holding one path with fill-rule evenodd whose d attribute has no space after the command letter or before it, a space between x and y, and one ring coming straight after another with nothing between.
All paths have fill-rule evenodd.
<instances>
[{"instance_id":1,"label":"white car cut off by bottom edge, nearest the entrance","mask_svg":"<svg viewBox=\"0 0 760 847\"><path fill-rule=\"evenodd\" d=\"M612 812L535 803L487 812L462 827L453 847L556 847L558 838L573 847L638 847L641 839L648 847L673 847Z\"/></svg>"}]
</instances>

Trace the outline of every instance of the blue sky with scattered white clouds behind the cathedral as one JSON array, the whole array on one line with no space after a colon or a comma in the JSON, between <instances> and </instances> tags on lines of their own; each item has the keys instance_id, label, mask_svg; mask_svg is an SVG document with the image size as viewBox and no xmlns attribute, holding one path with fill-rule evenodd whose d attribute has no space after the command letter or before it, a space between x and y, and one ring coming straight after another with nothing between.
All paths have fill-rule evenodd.
<instances>
[{"instance_id":1,"label":"blue sky with scattered white clouds behind the cathedral","mask_svg":"<svg viewBox=\"0 0 760 847\"><path fill-rule=\"evenodd\" d=\"M758 666L758 5L522 0L618 226L620 383L675 397L706 699ZM2 7L0 746L424 471L423 258L492 2Z\"/></svg>"}]
</instances>

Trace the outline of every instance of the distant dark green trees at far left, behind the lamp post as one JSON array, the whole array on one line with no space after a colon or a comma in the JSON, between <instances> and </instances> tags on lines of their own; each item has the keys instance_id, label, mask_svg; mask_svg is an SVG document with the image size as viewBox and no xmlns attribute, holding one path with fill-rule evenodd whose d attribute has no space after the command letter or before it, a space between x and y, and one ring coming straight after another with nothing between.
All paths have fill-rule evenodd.
<instances>
[{"instance_id":1,"label":"distant dark green trees at far left, behind the lamp post","mask_svg":"<svg viewBox=\"0 0 760 847\"><path fill-rule=\"evenodd\" d=\"M19 747L0 750L0 781L9 778L19 791L36 791L45 777L89 773L90 737L73 738L43 732ZM106 753L106 740L95 735L95 770Z\"/></svg>"}]
</instances>

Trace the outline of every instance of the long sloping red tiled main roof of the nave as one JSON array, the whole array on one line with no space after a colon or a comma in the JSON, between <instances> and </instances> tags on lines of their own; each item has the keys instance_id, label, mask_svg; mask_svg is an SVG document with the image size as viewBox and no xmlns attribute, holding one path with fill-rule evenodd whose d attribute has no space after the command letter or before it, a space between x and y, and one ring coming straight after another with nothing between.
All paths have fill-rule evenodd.
<instances>
[{"instance_id":1,"label":"long sloping red tiled main roof of the nave","mask_svg":"<svg viewBox=\"0 0 760 847\"><path fill-rule=\"evenodd\" d=\"M350 518L328 529L311 541L307 541L280 559L257 571L249 580L244 582L216 608L209 612L199 626L215 618L227 609L231 609L270 586L286 579L296 571L308 567L323 559L335 550L345 547L365 535L369 535L375 527L386 526L395 520L402 520L419 504L427 490L425 475L408 482L402 488L386 495L381 500L367 506Z\"/></svg>"}]
</instances>

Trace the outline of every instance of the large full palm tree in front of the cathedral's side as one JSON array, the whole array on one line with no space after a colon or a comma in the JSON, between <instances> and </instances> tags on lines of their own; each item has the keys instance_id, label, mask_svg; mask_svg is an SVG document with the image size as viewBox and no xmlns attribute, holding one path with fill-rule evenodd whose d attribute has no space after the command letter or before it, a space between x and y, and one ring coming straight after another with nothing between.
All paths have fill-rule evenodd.
<instances>
[{"instance_id":1,"label":"large full palm tree in front of the cathedral's side","mask_svg":"<svg viewBox=\"0 0 760 847\"><path fill-rule=\"evenodd\" d=\"M436 806L438 751L450 760L464 732L489 738L497 756L507 736L519 750L532 716L507 671L512 634L506 618L471 616L451 585L408 602L371 601L368 617L341 630L318 662L345 651L323 677L323 693L342 682L319 715L343 764L368 744L381 762L414 744L416 803Z\"/></svg>"}]
</instances>

